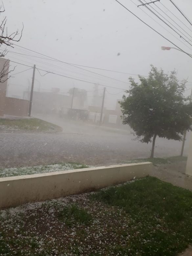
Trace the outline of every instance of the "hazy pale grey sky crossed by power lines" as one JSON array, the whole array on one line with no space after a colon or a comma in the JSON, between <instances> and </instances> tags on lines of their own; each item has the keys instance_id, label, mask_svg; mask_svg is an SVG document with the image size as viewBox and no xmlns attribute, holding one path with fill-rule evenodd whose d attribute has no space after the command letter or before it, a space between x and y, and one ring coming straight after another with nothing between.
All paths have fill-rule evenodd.
<instances>
[{"instance_id":1,"label":"hazy pale grey sky crossed by power lines","mask_svg":"<svg viewBox=\"0 0 192 256\"><path fill-rule=\"evenodd\" d=\"M132 1L136 5L130 0L120 0L122 4L146 23L150 24L150 26L158 30L158 32L162 33L184 51L192 54L192 46L190 44L179 38L175 32L171 31L168 26L158 20L145 7L138 8L138 0ZM191 0L174 0L174 2L186 16L190 17L192 11ZM190 30L161 4L165 5L181 19ZM1 18L4 15L7 16L9 32L13 32L17 28L21 30L22 22L24 24L23 36L21 41L16 43L17 45L64 62L112 69L131 74L147 75L150 70L150 64L162 68L165 72L170 72L175 68L179 79L188 77L188 81L192 82L192 58L174 49L162 51L161 46L172 47L173 45L141 23L115 0L5 0L4 6L6 11L1 13ZM156 6L153 4L150 7L154 7L167 19L169 18L166 14L169 15L185 32L192 36L192 26L182 17L170 1L160 0L160 2L156 3ZM166 14L163 14L158 7L165 11ZM143 11L157 20L164 28ZM173 21L169 21L178 27ZM176 37L167 32L165 28ZM185 34L183 30L181 32ZM192 37L188 37L189 40L192 40ZM189 43L192 44L191 41ZM12 52L43 57L17 46L9 49ZM117 55L117 53L120 53L120 55ZM121 98L121 89L127 89L129 86L129 84L100 77L60 62L15 53L9 53L7 57L29 66L36 64L37 68L61 75L117 87L119 89L107 88L109 93L119 93L117 95L106 94L106 104L109 108L115 106L117 98ZM28 68L19 64L15 65L17 67L14 73ZM89 70L128 82L129 75L95 69ZM41 74L43 75L45 72L41 72ZM133 77L137 80L137 76ZM32 70L15 75L8 82L10 84L8 95L22 96L23 90L31 84L31 78ZM35 81L35 90L39 90L39 87L41 87L41 90L59 87L61 92L68 92L69 88L74 86L86 90L93 89L93 84L91 83L80 82L53 74L40 76L36 72L35 78L38 80ZM192 83L188 83L187 89L191 86ZM186 91L186 95L188 94L190 94L190 90ZM92 93L89 96L92 96Z\"/></svg>"}]
</instances>

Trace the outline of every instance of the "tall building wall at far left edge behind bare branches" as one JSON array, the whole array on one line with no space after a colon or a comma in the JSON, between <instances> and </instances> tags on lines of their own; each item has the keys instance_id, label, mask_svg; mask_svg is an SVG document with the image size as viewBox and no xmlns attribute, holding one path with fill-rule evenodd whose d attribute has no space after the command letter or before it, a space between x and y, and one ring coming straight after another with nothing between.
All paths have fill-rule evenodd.
<instances>
[{"instance_id":1,"label":"tall building wall at far left edge behind bare branches","mask_svg":"<svg viewBox=\"0 0 192 256\"><path fill-rule=\"evenodd\" d=\"M0 58L0 74L3 69L7 70L9 68L9 60ZM6 73L8 73L9 69ZM8 75L4 76L2 79L6 80ZM7 93L7 81L4 83L0 83L0 117L3 117L5 114L5 101L6 101L6 93Z\"/></svg>"}]
</instances>

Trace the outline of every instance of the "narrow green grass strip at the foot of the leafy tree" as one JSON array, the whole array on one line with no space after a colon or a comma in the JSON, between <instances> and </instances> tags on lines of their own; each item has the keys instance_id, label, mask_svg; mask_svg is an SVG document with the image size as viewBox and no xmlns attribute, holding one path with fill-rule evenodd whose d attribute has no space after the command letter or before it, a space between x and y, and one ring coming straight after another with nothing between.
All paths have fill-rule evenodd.
<instances>
[{"instance_id":1,"label":"narrow green grass strip at the foot of the leafy tree","mask_svg":"<svg viewBox=\"0 0 192 256\"><path fill-rule=\"evenodd\" d=\"M175 163L180 161L186 161L187 157L167 157L167 158L139 158L139 159L133 159L128 160L126 163L139 163L139 162L152 162L154 165L158 164L169 164L169 163Z\"/></svg>"}]
</instances>

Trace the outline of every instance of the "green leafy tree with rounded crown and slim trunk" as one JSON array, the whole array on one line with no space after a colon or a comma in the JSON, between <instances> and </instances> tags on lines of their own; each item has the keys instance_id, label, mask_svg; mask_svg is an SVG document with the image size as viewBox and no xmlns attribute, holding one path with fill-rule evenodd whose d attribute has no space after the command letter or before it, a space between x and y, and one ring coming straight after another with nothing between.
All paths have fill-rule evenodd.
<instances>
[{"instance_id":1,"label":"green leafy tree with rounded crown and slim trunk","mask_svg":"<svg viewBox=\"0 0 192 256\"><path fill-rule=\"evenodd\" d=\"M192 102L184 97L186 80L178 81L176 71L164 74L151 65L148 77L139 75L139 83L129 78L131 86L120 101L123 124L129 124L141 142L152 143L156 137L182 140L184 130L192 130Z\"/></svg>"}]
</instances>

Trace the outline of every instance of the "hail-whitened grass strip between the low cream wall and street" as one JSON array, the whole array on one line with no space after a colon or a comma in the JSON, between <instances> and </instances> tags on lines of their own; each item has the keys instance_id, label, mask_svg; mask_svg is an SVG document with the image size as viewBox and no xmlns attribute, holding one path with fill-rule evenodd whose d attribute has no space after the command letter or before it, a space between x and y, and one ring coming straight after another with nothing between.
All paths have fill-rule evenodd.
<instances>
[{"instance_id":1,"label":"hail-whitened grass strip between the low cream wall and street","mask_svg":"<svg viewBox=\"0 0 192 256\"><path fill-rule=\"evenodd\" d=\"M57 172L73 169L88 168L86 164L80 163L56 163L49 165L38 165L38 166L25 166L25 167L12 167L12 168L0 168L0 178L19 176L19 175L29 175L37 173L46 173L46 172Z\"/></svg>"}]
</instances>

